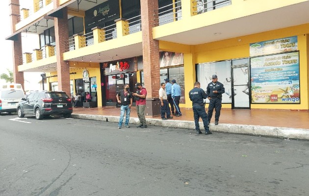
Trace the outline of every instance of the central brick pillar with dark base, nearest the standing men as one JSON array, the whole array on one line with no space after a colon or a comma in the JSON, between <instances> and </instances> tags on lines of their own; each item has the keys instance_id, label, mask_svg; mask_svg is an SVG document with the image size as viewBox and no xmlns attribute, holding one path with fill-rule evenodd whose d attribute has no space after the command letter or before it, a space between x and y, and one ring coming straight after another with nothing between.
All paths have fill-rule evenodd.
<instances>
[{"instance_id":1,"label":"central brick pillar with dark base, nearest the standing men","mask_svg":"<svg viewBox=\"0 0 309 196\"><path fill-rule=\"evenodd\" d=\"M144 87L147 90L145 115L157 116L160 114L159 89L159 41L153 39L154 10L158 9L158 0L141 0L141 23L143 36L143 66Z\"/></svg>"}]
</instances>

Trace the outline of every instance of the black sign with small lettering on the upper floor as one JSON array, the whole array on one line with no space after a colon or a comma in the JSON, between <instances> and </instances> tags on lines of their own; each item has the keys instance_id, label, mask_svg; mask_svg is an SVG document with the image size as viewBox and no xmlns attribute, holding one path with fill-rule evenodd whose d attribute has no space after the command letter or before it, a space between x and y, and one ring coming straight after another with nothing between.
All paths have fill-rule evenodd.
<instances>
[{"instance_id":1,"label":"black sign with small lettering on the upper floor","mask_svg":"<svg viewBox=\"0 0 309 196\"><path fill-rule=\"evenodd\" d=\"M85 11L86 29L120 18L119 0L107 0Z\"/></svg>"}]
</instances>

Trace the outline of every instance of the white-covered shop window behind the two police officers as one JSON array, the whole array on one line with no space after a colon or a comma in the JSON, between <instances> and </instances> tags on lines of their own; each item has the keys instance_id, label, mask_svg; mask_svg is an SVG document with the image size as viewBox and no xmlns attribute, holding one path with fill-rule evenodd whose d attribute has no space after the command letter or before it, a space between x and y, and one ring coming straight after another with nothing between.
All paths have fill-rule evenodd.
<instances>
[{"instance_id":1,"label":"white-covered shop window behind the two police officers","mask_svg":"<svg viewBox=\"0 0 309 196\"><path fill-rule=\"evenodd\" d=\"M212 82L212 75L218 76L218 81L224 85L225 93L222 95L222 103L232 103L232 76L231 61L220 61L214 63L202 63L197 65L197 81L206 92L207 84ZM209 100L206 99L206 103Z\"/></svg>"}]
</instances>

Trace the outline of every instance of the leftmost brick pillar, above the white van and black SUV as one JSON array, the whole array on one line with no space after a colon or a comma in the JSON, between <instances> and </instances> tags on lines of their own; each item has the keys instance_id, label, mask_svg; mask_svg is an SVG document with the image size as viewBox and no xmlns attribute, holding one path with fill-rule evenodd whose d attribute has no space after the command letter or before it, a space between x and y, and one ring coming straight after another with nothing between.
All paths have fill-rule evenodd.
<instances>
[{"instance_id":1,"label":"leftmost brick pillar, above the white van and black SUV","mask_svg":"<svg viewBox=\"0 0 309 196\"><path fill-rule=\"evenodd\" d=\"M10 19L11 19L11 32L16 31L15 25L18 23L20 18L20 5L19 0L9 0L9 9L10 9ZM17 39L12 42L13 50L13 77L14 82L19 83L24 86L24 72L18 72L18 66L21 64L21 58L23 57L22 49L22 36L21 33L17 35Z\"/></svg>"}]
</instances>

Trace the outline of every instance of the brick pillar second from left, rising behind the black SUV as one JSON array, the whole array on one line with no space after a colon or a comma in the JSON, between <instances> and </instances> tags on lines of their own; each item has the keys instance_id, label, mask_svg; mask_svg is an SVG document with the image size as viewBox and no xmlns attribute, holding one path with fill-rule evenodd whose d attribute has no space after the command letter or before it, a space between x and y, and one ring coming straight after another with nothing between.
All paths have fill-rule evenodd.
<instances>
[{"instance_id":1,"label":"brick pillar second from left, rising behind the black SUV","mask_svg":"<svg viewBox=\"0 0 309 196\"><path fill-rule=\"evenodd\" d=\"M58 2L59 0L56 1ZM56 38L55 45L57 51L56 57L57 57L58 88L60 91L66 92L66 94L69 97L71 97L70 67L69 63L63 60L63 53L65 52L66 41L69 40L68 12L66 8L62 9L61 18L54 18L54 26L55 26L55 38Z\"/></svg>"}]
</instances>

